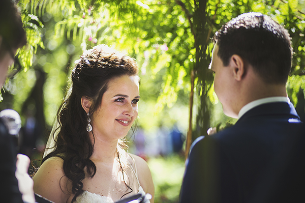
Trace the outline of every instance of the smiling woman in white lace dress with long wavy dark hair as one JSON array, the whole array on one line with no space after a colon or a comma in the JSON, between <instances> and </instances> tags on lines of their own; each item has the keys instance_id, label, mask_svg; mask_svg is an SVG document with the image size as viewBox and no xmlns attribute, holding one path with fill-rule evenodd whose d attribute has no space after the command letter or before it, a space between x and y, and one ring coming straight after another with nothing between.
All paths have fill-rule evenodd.
<instances>
[{"instance_id":1,"label":"smiling woman in white lace dress with long wavy dark hair","mask_svg":"<svg viewBox=\"0 0 305 203\"><path fill-rule=\"evenodd\" d=\"M113 203L137 193L151 194L153 203L147 163L124 150L138 116L135 61L98 45L83 54L71 79L34 192L55 203Z\"/></svg>"}]
</instances>

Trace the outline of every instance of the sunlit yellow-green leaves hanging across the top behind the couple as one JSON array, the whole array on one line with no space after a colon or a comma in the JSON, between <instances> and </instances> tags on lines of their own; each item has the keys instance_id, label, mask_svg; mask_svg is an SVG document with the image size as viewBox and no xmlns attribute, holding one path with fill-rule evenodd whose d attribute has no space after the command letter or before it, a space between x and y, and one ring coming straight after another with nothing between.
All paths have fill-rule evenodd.
<instances>
[{"instance_id":1,"label":"sunlit yellow-green leaves hanging across the top behind the couple","mask_svg":"<svg viewBox=\"0 0 305 203\"><path fill-rule=\"evenodd\" d=\"M43 24L39 18L47 19L49 16L53 18L53 23L55 23L51 26L48 24L48 31L53 28L51 33L53 39L49 39L50 46L55 42L54 40L59 39L66 39L72 44L81 41L81 49L84 51L95 44L105 43L137 58L143 75L149 72L151 79L163 81L161 84L159 83L158 88L155 88L157 92L160 89L156 105L156 112L160 112L164 105L173 106L177 101L179 91L183 91L183 95L190 92L190 70L194 68L196 54L198 55L194 45L195 31L192 31L192 24L195 24L198 18L198 16L194 17L196 14L194 2L197 1L20 0L19 5L23 9L25 27L31 28L27 29L30 46L21 51L20 58L22 58L26 71L31 65L37 45L44 48L41 41ZM292 75L304 73L302 71L304 71L305 66L301 60L304 57L303 49L305 49L304 34L302 34L304 14L299 12L298 6L297 0L287 2L281 0L217 0L207 2L206 29L208 34L206 40L208 44L204 53L206 54L205 64L202 64L204 67L198 68L199 72L196 75L199 77L199 81L197 80L199 86L196 89L199 97L204 95L209 98L210 108L217 100L215 95L211 93L213 77L207 73L207 82L204 82L206 85L203 85L202 81L206 81L206 79L201 78L204 74L200 72L206 69L205 67L208 66L211 59L213 44L209 38L223 23L241 13L262 12L271 15L278 23L285 25L293 38L296 53ZM48 39L45 40L45 43L47 42ZM74 47L79 46L77 43L74 44L76 45L73 45ZM57 46L62 45L58 44ZM55 49L51 48L51 51L53 53ZM81 53L77 54L81 55ZM164 69L166 71L163 71ZM161 78L160 75L157 75L160 71L162 71ZM295 80L297 79L294 78L293 81ZM291 81L289 80L290 83ZM299 82L300 79L295 81L295 83ZM64 88L64 85L63 83L62 86L59 86L59 89ZM19 89L18 92L25 92L25 95L20 96L25 98L27 95L25 89L30 89L30 86L22 87L25 88ZM292 91L294 102L296 102L297 92L296 88ZM147 96L152 95L155 98L157 94L155 92ZM16 98L15 100L14 108L18 109L22 99ZM202 120L199 118L197 124L200 123Z\"/></svg>"}]
</instances>

